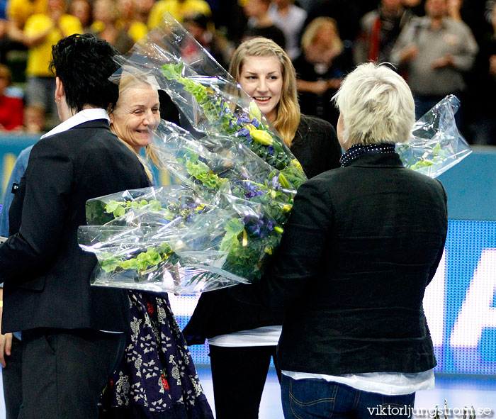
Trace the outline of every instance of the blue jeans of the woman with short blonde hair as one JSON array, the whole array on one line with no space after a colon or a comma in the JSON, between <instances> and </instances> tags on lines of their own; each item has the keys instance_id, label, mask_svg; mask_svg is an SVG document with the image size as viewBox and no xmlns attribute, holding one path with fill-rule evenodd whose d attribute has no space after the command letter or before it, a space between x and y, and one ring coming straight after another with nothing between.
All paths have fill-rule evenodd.
<instances>
[{"instance_id":1,"label":"blue jeans of the woman with short blonde hair","mask_svg":"<svg viewBox=\"0 0 496 419\"><path fill-rule=\"evenodd\" d=\"M415 393L385 396L321 379L281 381L285 419L411 418Z\"/></svg>"}]
</instances>

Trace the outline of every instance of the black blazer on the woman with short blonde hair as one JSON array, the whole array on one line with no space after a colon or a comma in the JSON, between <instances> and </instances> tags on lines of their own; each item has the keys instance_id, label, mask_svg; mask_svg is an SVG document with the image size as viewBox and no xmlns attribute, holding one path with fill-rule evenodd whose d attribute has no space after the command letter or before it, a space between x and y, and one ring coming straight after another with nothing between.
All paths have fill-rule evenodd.
<instances>
[{"instance_id":1,"label":"black blazer on the woman with short blonde hair","mask_svg":"<svg viewBox=\"0 0 496 419\"><path fill-rule=\"evenodd\" d=\"M439 181L366 154L295 196L266 276L231 291L283 308L278 368L317 374L436 365L422 309L446 240Z\"/></svg>"}]
</instances>

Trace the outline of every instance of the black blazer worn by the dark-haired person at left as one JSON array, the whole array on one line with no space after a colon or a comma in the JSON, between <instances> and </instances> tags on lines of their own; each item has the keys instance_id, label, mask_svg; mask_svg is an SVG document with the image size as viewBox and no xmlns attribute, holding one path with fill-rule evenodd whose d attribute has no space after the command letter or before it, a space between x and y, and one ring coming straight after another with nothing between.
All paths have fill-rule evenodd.
<instances>
[{"instance_id":1,"label":"black blazer worn by the dark-haired person at left","mask_svg":"<svg viewBox=\"0 0 496 419\"><path fill-rule=\"evenodd\" d=\"M127 330L125 292L90 286L96 257L79 247L77 228L86 224L86 200L146 186L142 164L106 120L35 144L9 211L11 225L20 230L0 246L4 333L39 327Z\"/></svg>"}]
</instances>

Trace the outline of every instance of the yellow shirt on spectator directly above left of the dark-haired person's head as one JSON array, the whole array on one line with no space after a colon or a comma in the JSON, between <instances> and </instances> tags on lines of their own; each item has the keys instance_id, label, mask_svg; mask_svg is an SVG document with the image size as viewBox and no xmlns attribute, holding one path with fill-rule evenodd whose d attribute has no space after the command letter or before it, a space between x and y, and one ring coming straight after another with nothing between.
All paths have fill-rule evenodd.
<instances>
[{"instance_id":1,"label":"yellow shirt on spectator directly above left of the dark-haired person's head","mask_svg":"<svg viewBox=\"0 0 496 419\"><path fill-rule=\"evenodd\" d=\"M26 68L28 76L55 77L48 69L50 60L52 60L52 45L55 45L64 36L83 33L81 22L72 15L62 15L59 26L62 28L63 34L59 29L53 27L50 17L43 13L35 14L28 18L26 26L24 26L24 33L28 36L44 33L47 28L52 27L45 39L28 50L28 66Z\"/></svg>"}]
</instances>

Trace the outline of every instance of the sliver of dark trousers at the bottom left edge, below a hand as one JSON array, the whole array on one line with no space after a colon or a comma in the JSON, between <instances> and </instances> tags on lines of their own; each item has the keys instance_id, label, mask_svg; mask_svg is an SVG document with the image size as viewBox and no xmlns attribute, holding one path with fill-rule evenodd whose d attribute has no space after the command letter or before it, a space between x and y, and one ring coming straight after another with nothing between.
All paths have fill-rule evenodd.
<instances>
[{"instance_id":1,"label":"sliver of dark trousers at the bottom left edge, below a hand","mask_svg":"<svg viewBox=\"0 0 496 419\"><path fill-rule=\"evenodd\" d=\"M6 357L6 365L1 369L4 380L4 398L6 419L17 419L21 401L23 398L23 388L21 386L22 357L23 348L21 340L12 337L11 355Z\"/></svg>"}]
</instances>

